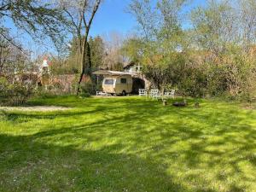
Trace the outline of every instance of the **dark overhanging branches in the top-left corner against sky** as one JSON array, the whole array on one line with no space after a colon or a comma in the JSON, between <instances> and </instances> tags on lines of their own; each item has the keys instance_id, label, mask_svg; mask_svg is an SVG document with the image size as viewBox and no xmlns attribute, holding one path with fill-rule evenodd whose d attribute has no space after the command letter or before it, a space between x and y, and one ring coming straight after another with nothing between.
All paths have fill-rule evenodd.
<instances>
[{"instance_id":1,"label":"dark overhanging branches in the top-left corner against sky","mask_svg":"<svg viewBox=\"0 0 256 192\"><path fill-rule=\"evenodd\" d=\"M16 27L22 29L34 38L40 38L44 35L49 36L55 45L60 45L63 38L62 25L64 21L61 9L55 6L55 3L37 0L2 0L0 3L0 20L12 20ZM0 26L0 35L11 44L15 44L9 30Z\"/></svg>"}]
</instances>

